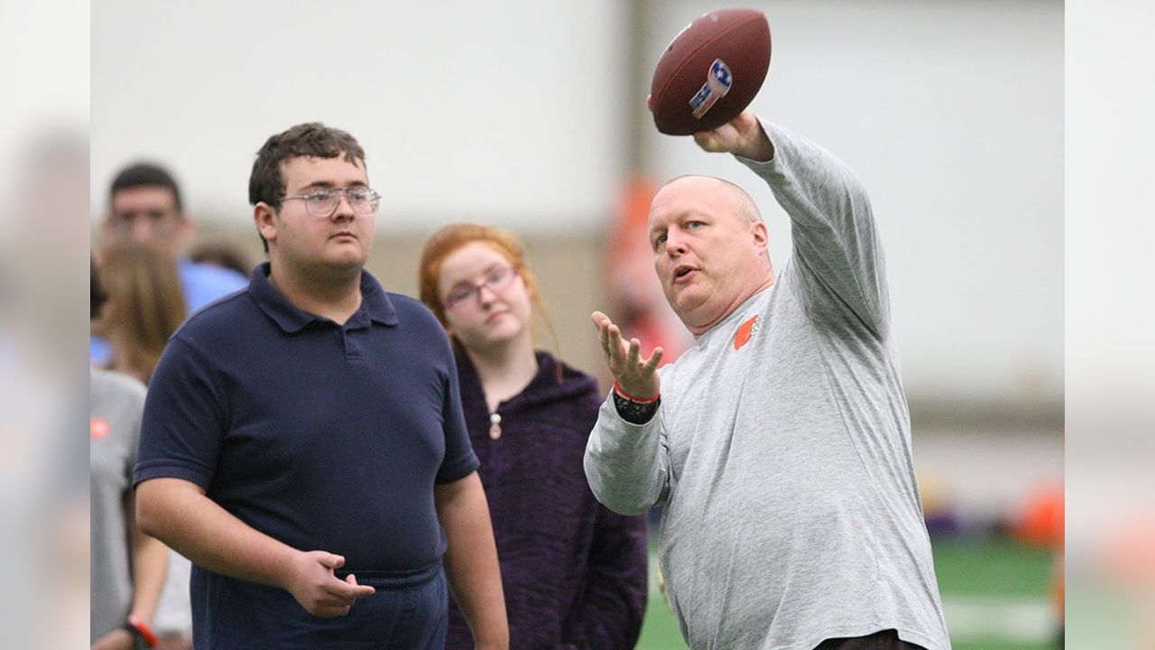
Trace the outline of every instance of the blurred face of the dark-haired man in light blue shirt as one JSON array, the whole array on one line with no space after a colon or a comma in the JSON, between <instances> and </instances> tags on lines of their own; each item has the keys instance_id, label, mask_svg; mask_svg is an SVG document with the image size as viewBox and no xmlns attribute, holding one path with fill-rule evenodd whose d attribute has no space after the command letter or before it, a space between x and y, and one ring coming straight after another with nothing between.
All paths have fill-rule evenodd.
<instances>
[{"instance_id":1,"label":"blurred face of the dark-haired man in light blue shirt","mask_svg":"<svg viewBox=\"0 0 1155 650\"><path fill-rule=\"evenodd\" d=\"M192 224L177 207L172 191L161 186L118 190L104 221L107 243L152 244L171 254L177 253L191 230Z\"/></svg>"}]
</instances>

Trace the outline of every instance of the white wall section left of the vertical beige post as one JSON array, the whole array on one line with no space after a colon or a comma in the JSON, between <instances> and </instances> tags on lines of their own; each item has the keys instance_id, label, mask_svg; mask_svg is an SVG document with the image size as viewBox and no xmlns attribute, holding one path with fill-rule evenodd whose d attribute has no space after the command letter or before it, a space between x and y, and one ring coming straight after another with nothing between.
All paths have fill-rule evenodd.
<instances>
[{"instance_id":1,"label":"white wall section left of the vertical beige post","mask_svg":"<svg viewBox=\"0 0 1155 650\"><path fill-rule=\"evenodd\" d=\"M106 0L92 9L92 200L126 160L179 171L193 209L247 217L264 139L351 132L383 229L457 219L598 228L624 164L616 0ZM404 214L405 222L389 215Z\"/></svg>"}]
</instances>

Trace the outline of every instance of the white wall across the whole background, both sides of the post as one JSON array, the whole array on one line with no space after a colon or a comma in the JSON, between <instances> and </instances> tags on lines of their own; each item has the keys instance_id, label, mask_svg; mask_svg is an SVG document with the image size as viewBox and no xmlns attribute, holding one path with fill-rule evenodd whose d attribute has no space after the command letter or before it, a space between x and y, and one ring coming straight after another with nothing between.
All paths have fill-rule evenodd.
<instances>
[{"instance_id":1,"label":"white wall across the whole background, both sides of the post","mask_svg":"<svg viewBox=\"0 0 1155 650\"><path fill-rule=\"evenodd\" d=\"M888 253L907 384L956 399L1063 396L1063 15L1058 1L776 0L754 102L856 169ZM116 168L171 164L202 219L247 223L254 152L320 119L351 131L386 194L379 227L454 220L597 234L643 111L628 71L725 3L152 3L92 7L92 212ZM787 221L737 163L646 131L657 178L723 176ZM247 234L247 230L246 230ZM601 279L591 278L591 282Z\"/></svg>"}]
</instances>

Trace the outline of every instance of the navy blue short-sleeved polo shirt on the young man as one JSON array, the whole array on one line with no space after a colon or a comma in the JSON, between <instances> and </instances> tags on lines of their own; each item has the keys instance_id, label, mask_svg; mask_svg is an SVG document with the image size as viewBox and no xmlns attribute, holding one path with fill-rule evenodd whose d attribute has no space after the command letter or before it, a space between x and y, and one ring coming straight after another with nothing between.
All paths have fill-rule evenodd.
<instances>
[{"instance_id":1,"label":"navy blue short-sleeved polo shirt on the young man","mask_svg":"<svg viewBox=\"0 0 1155 650\"><path fill-rule=\"evenodd\" d=\"M192 481L249 526L344 555L355 573L437 562L446 540L433 486L478 466L444 330L367 271L344 325L293 306L268 273L262 264L246 290L173 334L134 482Z\"/></svg>"}]
</instances>

